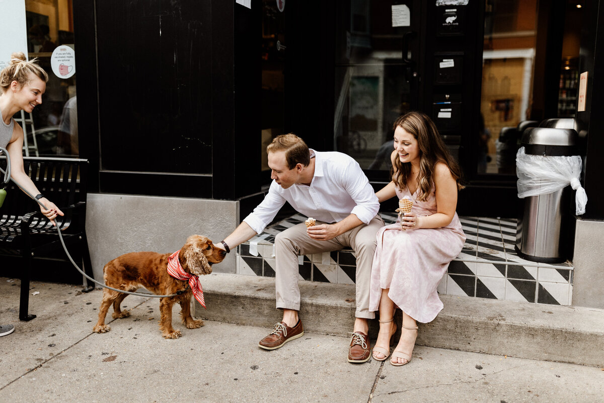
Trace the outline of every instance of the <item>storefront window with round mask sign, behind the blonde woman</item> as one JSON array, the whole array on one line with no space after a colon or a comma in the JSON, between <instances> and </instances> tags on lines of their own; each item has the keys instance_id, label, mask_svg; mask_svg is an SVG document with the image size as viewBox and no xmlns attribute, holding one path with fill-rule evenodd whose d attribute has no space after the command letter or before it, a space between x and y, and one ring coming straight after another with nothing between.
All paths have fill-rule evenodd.
<instances>
[{"instance_id":1,"label":"storefront window with round mask sign, behind the blonde woman","mask_svg":"<svg viewBox=\"0 0 604 403\"><path fill-rule=\"evenodd\" d=\"M72 0L26 0L25 20L28 57L37 58L49 79L42 105L14 116L27 133L24 155L77 156L76 66L57 62L53 70L57 59L52 60L53 53L56 58L63 49L75 49Z\"/></svg>"}]
</instances>

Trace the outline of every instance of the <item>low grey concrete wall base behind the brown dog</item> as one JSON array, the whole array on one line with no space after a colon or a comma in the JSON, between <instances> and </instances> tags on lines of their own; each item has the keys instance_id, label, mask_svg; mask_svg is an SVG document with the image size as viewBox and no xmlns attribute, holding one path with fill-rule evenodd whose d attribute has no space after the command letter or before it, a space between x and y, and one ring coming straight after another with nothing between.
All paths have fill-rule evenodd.
<instances>
[{"instance_id":1,"label":"low grey concrete wall base behind the brown dog","mask_svg":"<svg viewBox=\"0 0 604 403\"><path fill-rule=\"evenodd\" d=\"M121 254L179 250L191 234L224 239L239 224L239 202L212 199L90 193L86 207L86 234L96 280L103 266ZM235 272L235 253L214 271Z\"/></svg>"}]
</instances>

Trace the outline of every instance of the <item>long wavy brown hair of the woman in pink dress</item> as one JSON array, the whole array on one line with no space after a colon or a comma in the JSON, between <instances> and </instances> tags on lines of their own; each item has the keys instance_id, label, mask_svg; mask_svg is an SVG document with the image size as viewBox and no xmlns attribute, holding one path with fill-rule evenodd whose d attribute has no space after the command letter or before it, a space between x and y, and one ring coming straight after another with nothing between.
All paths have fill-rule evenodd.
<instances>
[{"instance_id":1,"label":"long wavy brown hair of the woman in pink dress","mask_svg":"<svg viewBox=\"0 0 604 403\"><path fill-rule=\"evenodd\" d=\"M439 131L434 122L428 115L422 112L408 112L394 121L393 129L401 127L406 132L413 135L419 143L420 150L420 171L417 176L417 182L420 188L418 200L425 201L432 188L432 172L434 166L439 161L445 163L451 175L457 181L457 190L464 188L461 185L461 169L457 161L451 156L445 146L445 142L440 137ZM391 170L392 180L399 189L407 187L407 179L411 176L411 163L401 163L398 156L393 158Z\"/></svg>"}]
</instances>

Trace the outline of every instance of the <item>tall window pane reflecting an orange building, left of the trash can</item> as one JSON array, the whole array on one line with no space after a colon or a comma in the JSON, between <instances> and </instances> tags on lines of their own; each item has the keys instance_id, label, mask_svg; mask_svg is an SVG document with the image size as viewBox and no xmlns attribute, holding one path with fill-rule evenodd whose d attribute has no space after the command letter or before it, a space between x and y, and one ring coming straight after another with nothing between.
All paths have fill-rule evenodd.
<instances>
[{"instance_id":1,"label":"tall window pane reflecting an orange building, left of the trash can","mask_svg":"<svg viewBox=\"0 0 604 403\"><path fill-rule=\"evenodd\" d=\"M536 21L536 0L486 2L478 173L516 173L516 126L530 117Z\"/></svg>"}]
</instances>

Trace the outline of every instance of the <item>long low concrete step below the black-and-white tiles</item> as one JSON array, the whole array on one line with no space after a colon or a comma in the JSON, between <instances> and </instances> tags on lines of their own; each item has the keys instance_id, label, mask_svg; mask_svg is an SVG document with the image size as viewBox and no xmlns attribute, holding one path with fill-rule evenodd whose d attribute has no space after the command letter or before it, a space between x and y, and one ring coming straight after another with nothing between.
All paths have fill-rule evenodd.
<instances>
[{"instance_id":1,"label":"long low concrete step below the black-and-white tiles","mask_svg":"<svg viewBox=\"0 0 604 403\"><path fill-rule=\"evenodd\" d=\"M260 276L210 274L201 277L207 309L194 302L198 318L272 328L275 281ZM344 336L352 331L355 286L301 281L304 330ZM440 295L445 308L419 324L417 344L604 367L604 311L487 298ZM398 323L400 323L400 311ZM371 341L379 323L370 323Z\"/></svg>"}]
</instances>

